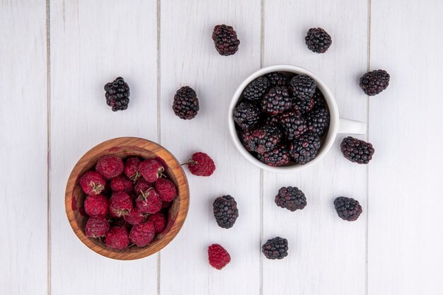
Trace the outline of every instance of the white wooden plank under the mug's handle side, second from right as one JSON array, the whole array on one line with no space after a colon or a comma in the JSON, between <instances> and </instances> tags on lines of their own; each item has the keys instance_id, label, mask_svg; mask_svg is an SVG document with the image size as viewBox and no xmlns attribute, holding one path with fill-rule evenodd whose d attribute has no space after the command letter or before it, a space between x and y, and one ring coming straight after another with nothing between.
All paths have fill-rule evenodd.
<instances>
[{"instance_id":1,"label":"white wooden plank under the mug's handle side, second from right","mask_svg":"<svg viewBox=\"0 0 443 295\"><path fill-rule=\"evenodd\" d=\"M294 64L318 74L334 94L340 116L367 120L367 98L357 78L367 68L366 1L265 1L263 65ZM325 54L308 50L309 28L333 37ZM367 167L340 153L339 134L328 155L297 173L264 173L263 242L289 241L284 260L263 259L263 294L364 294ZM359 137L364 138L364 137ZM282 186L305 192L307 206L289 212L275 205ZM358 199L364 213L349 223L338 218L335 197Z\"/></svg>"}]
</instances>

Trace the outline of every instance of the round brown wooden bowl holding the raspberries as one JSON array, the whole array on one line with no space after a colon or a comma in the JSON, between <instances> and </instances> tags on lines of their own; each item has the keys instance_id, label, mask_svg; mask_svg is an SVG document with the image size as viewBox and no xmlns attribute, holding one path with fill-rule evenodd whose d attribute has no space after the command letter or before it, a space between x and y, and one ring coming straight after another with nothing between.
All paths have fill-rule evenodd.
<instances>
[{"instance_id":1,"label":"round brown wooden bowl holding the raspberries","mask_svg":"<svg viewBox=\"0 0 443 295\"><path fill-rule=\"evenodd\" d=\"M161 158L166 163L166 174L176 184L178 197L173 200L168 211L166 229L156 235L154 240L143 248L131 247L124 250L108 248L105 243L97 238L88 238L84 227L88 216L84 213L84 194L79 184L79 178L83 173L93 168L98 159L105 155L113 155L120 158L126 156L139 156L142 158ZM74 166L69 175L65 192L65 208L74 233L91 250L108 258L118 260L134 260L152 255L168 245L180 231L188 214L189 187L185 172L177 159L163 146L152 141L136 137L120 137L102 142L90 149Z\"/></svg>"}]
</instances>

